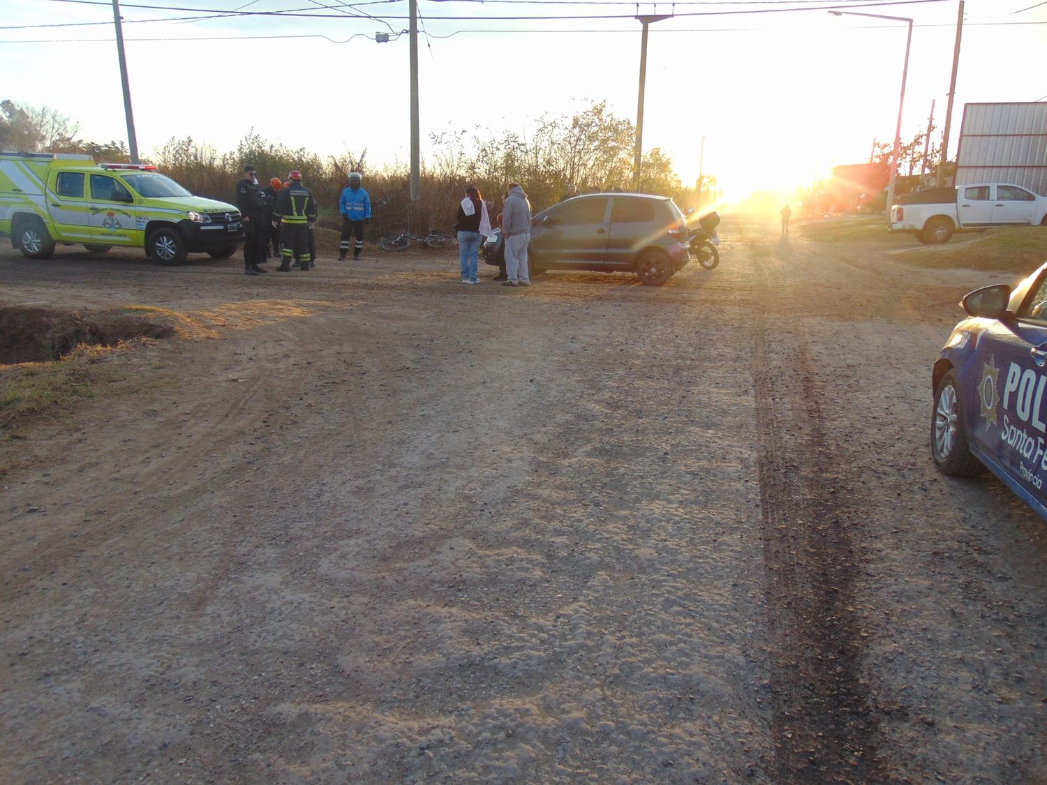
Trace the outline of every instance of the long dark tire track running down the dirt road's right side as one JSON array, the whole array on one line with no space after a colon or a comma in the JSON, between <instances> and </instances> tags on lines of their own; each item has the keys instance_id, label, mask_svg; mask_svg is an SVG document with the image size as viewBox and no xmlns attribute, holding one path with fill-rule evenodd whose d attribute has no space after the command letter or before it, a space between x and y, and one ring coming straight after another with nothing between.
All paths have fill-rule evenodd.
<instances>
[{"instance_id":1,"label":"long dark tire track running down the dirt road's right side","mask_svg":"<svg viewBox=\"0 0 1047 785\"><path fill-rule=\"evenodd\" d=\"M793 284L772 281L761 259L765 249L750 248L757 289ZM859 559L847 484L796 318L801 304L794 318L756 309L751 322L776 779L882 782L879 731L861 673Z\"/></svg>"}]
</instances>

